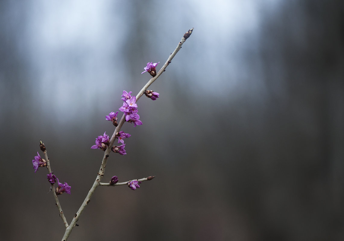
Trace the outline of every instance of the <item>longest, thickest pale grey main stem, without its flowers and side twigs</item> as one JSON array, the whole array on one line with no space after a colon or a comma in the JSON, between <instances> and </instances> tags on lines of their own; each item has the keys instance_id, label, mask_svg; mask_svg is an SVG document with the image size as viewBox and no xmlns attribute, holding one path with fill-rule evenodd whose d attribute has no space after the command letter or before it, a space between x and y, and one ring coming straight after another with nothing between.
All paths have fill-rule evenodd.
<instances>
[{"instance_id":1,"label":"longest, thickest pale grey main stem, without its flowers and side twigs","mask_svg":"<svg viewBox=\"0 0 344 241\"><path fill-rule=\"evenodd\" d=\"M188 32L192 32L193 28L191 30L189 30ZM191 34L190 32L190 34ZM184 35L185 36L185 35ZM181 49L183 43L185 42L185 38L183 37L182 40L178 43L176 49L173 51L173 53L170 55L170 57L167 59L167 61L165 62L165 64L162 66L162 68L159 70L159 72L157 73L156 76L154 76L153 78L151 78L146 85L144 85L144 87L142 88L142 90L140 90L140 92L136 95L136 102L138 101L138 99L140 99L140 97L142 96L142 94L144 93L144 91L147 90L147 88L156 80L158 79L158 77L162 74L162 72L166 69L166 67L171 63L171 60L173 59L173 57L178 53L178 51ZM69 226L66 228L65 234L62 238L62 241L66 241L69 237L69 235L72 232L72 229L75 227L76 222L78 221L79 217L82 215L82 213L84 212L85 207L87 206L87 204L90 202L91 197L93 196L96 187L99 185L101 179L104 176L104 172L105 172L105 167L106 167L106 163L109 157L109 153L111 151L111 147L115 142L116 139L116 134L120 131L120 129L122 128L123 123L125 122L125 114L122 115L122 118L120 120L120 122L118 123L118 126L116 127L114 134L112 134L111 139L110 139L110 144L109 147L105 150L104 153L104 157L103 160L101 161L101 166L98 172L98 175L96 177L96 180L93 183L93 186L91 187L91 189L89 190L83 204L80 206L79 210L76 212L76 214L74 215L73 220L71 221L71 223L69 224Z\"/></svg>"}]
</instances>

